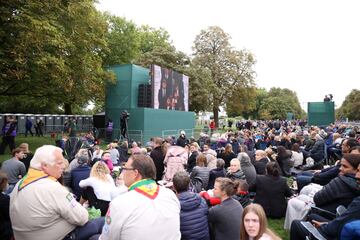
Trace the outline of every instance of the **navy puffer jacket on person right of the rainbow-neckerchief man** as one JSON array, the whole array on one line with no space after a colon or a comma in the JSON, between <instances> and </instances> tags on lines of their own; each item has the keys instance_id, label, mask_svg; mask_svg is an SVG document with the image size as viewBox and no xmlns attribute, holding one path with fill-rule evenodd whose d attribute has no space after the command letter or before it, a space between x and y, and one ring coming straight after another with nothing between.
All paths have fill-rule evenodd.
<instances>
[{"instance_id":1,"label":"navy puffer jacket on person right of the rainbow-neckerchief man","mask_svg":"<svg viewBox=\"0 0 360 240\"><path fill-rule=\"evenodd\" d=\"M181 239L209 240L208 206L199 194L182 192L178 195Z\"/></svg>"}]
</instances>

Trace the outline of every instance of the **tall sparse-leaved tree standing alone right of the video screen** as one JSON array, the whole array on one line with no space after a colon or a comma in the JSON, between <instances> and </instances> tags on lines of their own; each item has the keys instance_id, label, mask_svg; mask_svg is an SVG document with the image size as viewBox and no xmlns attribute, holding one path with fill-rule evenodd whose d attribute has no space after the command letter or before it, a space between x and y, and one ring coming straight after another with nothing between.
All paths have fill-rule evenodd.
<instances>
[{"instance_id":1,"label":"tall sparse-leaved tree standing alone right of the video screen","mask_svg":"<svg viewBox=\"0 0 360 240\"><path fill-rule=\"evenodd\" d=\"M202 87L209 92L209 103L218 126L219 107L223 106L232 92L254 85L254 56L246 50L234 50L230 36L220 27L202 30L193 46L193 64L209 71L209 81Z\"/></svg>"}]
</instances>

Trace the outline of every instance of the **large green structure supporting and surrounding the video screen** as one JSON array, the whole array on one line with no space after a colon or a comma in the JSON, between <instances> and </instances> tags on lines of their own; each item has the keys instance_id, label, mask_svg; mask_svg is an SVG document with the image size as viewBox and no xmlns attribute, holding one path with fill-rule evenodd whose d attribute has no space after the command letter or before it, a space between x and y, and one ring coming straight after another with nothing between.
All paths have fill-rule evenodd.
<instances>
[{"instance_id":1,"label":"large green structure supporting and surrounding the video screen","mask_svg":"<svg viewBox=\"0 0 360 240\"><path fill-rule=\"evenodd\" d=\"M106 86L105 117L114 122L113 138L120 139L120 115L130 113L128 122L130 140L149 141L166 132L195 128L195 113L138 107L138 88L149 83L149 69L133 64L114 65L108 68L116 76L115 84Z\"/></svg>"}]
</instances>

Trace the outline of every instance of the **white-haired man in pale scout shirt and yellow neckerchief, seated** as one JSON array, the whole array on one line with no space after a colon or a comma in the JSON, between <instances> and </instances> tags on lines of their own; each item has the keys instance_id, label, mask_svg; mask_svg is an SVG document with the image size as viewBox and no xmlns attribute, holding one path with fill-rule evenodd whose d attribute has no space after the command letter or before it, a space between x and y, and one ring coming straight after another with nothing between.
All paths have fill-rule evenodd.
<instances>
[{"instance_id":1,"label":"white-haired man in pale scout shirt and yellow neckerchief, seated","mask_svg":"<svg viewBox=\"0 0 360 240\"><path fill-rule=\"evenodd\" d=\"M16 239L87 239L101 232L103 219L88 222L87 210L57 181L64 161L61 148L45 145L35 151L10 198Z\"/></svg>"}]
</instances>

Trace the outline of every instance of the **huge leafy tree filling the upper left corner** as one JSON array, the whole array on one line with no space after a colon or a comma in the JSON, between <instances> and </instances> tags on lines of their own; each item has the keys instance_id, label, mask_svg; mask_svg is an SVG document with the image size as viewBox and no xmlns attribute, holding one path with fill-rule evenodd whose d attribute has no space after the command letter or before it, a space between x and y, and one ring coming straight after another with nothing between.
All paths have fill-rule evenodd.
<instances>
[{"instance_id":1,"label":"huge leafy tree filling the upper left corner","mask_svg":"<svg viewBox=\"0 0 360 240\"><path fill-rule=\"evenodd\" d=\"M112 75L100 55L107 24L93 1L4 1L0 15L5 101L48 102L71 114L72 105L101 97Z\"/></svg>"}]
</instances>

